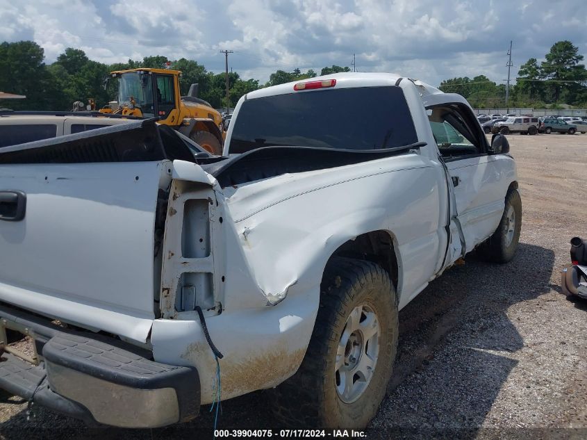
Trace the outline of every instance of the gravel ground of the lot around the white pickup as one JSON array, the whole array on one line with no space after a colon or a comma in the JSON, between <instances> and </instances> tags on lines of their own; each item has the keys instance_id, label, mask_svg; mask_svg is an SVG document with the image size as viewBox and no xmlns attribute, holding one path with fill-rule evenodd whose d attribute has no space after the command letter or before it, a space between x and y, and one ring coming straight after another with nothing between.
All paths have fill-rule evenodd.
<instances>
[{"instance_id":1,"label":"gravel ground of the lot around the white pickup","mask_svg":"<svg viewBox=\"0 0 587 440\"><path fill-rule=\"evenodd\" d=\"M587 302L561 294L568 241L586 236L587 135L509 136L523 205L515 259L474 255L400 313L394 377L369 438L587 438ZM219 427L274 427L263 392L223 403ZM210 437L213 417L158 430L90 429L0 395L2 439Z\"/></svg>"}]
</instances>

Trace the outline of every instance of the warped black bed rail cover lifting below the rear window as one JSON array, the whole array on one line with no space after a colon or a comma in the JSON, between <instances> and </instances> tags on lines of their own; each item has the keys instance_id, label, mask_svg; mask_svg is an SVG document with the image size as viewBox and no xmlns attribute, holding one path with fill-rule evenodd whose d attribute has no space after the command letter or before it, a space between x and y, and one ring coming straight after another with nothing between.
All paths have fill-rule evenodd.
<instances>
[{"instance_id":1,"label":"warped black bed rail cover lifting below the rear window","mask_svg":"<svg viewBox=\"0 0 587 440\"><path fill-rule=\"evenodd\" d=\"M315 147L263 147L230 156L226 160L201 165L222 186L267 179L287 172L304 172L335 168L353 163L374 161L396 156L411 149L424 147L426 142L416 142L402 147L373 150L351 150Z\"/></svg>"}]
</instances>

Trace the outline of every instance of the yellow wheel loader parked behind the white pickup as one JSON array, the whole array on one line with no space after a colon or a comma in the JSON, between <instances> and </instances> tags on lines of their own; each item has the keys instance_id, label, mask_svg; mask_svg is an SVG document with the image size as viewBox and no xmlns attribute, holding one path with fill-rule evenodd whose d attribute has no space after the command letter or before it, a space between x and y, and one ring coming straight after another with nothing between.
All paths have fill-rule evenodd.
<instances>
[{"instance_id":1,"label":"yellow wheel loader parked behind the white pickup","mask_svg":"<svg viewBox=\"0 0 587 440\"><path fill-rule=\"evenodd\" d=\"M108 81L117 81L117 101L100 109L100 113L123 116L159 117L213 154L222 154L224 128L222 116L208 102L197 97L197 84L187 96L180 96L179 70L133 69L110 72Z\"/></svg>"}]
</instances>

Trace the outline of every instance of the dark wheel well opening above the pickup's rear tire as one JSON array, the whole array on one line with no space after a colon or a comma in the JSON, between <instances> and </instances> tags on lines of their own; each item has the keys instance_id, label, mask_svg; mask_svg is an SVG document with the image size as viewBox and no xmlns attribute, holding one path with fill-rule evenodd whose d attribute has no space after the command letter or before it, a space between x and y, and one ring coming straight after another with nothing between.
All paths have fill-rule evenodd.
<instances>
[{"instance_id":1,"label":"dark wheel well opening above the pickup's rear tire","mask_svg":"<svg viewBox=\"0 0 587 440\"><path fill-rule=\"evenodd\" d=\"M372 261L388 272L397 292L397 256L393 241L387 231L372 231L343 243L332 256L346 256L359 260ZM331 258L332 258L331 256Z\"/></svg>"}]
</instances>

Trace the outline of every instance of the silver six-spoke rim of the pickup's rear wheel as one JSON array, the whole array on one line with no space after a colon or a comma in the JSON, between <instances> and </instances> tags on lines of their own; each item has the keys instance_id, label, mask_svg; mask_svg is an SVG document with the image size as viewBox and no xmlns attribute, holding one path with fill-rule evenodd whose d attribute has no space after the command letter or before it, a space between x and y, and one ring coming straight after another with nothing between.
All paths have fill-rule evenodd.
<instances>
[{"instance_id":1,"label":"silver six-spoke rim of the pickup's rear wheel","mask_svg":"<svg viewBox=\"0 0 587 440\"><path fill-rule=\"evenodd\" d=\"M371 382L380 335L379 319L371 307L363 304L351 311L338 341L334 366L336 392L343 402L358 400Z\"/></svg>"}]
</instances>

